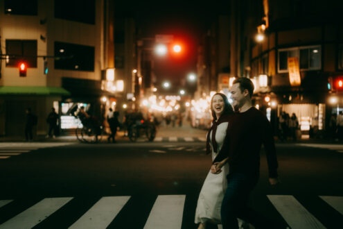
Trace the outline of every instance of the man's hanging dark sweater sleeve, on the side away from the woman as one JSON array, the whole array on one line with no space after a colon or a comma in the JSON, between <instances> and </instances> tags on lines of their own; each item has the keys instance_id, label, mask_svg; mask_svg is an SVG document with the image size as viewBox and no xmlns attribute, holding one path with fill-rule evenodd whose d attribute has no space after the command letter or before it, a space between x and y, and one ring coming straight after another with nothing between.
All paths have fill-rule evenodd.
<instances>
[{"instance_id":1,"label":"man's hanging dark sweater sleeve, on the side away from the woman","mask_svg":"<svg viewBox=\"0 0 343 229\"><path fill-rule=\"evenodd\" d=\"M276 159L276 149L274 143L274 137L272 134L272 126L267 118L264 117L264 121L261 122L264 125L264 134L263 134L263 145L265 146L265 154L267 155L267 164L269 169L269 177L277 178L277 168L278 162Z\"/></svg>"}]
</instances>

